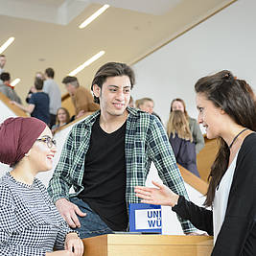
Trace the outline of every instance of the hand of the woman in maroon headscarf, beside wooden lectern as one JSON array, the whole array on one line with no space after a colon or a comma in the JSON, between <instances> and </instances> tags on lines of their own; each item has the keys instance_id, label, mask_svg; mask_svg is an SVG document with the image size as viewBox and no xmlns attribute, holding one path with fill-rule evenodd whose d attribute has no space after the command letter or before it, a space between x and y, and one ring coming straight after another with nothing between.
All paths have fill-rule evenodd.
<instances>
[{"instance_id":1,"label":"hand of the woman in maroon headscarf, beside wooden lectern","mask_svg":"<svg viewBox=\"0 0 256 256\"><path fill-rule=\"evenodd\" d=\"M65 249L73 252L74 256L82 256L83 244L77 233L68 233L65 240Z\"/></svg>"}]
</instances>

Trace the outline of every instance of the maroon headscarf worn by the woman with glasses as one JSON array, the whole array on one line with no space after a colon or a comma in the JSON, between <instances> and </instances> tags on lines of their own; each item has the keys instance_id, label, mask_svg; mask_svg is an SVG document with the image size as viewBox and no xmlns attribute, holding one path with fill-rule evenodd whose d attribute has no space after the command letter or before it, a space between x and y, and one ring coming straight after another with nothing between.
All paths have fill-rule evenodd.
<instances>
[{"instance_id":1,"label":"maroon headscarf worn by the woman with glasses","mask_svg":"<svg viewBox=\"0 0 256 256\"><path fill-rule=\"evenodd\" d=\"M34 117L8 118L0 125L0 162L16 164L45 128L46 124Z\"/></svg>"}]
</instances>

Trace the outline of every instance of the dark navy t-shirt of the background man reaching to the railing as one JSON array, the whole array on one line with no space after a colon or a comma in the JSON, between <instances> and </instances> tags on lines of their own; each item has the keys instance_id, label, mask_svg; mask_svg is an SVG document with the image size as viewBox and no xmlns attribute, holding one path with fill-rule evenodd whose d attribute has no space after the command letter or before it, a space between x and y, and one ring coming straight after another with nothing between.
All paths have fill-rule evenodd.
<instances>
[{"instance_id":1,"label":"dark navy t-shirt of the background man reaching to the railing","mask_svg":"<svg viewBox=\"0 0 256 256\"><path fill-rule=\"evenodd\" d=\"M49 96L44 92L35 92L32 94L29 104L35 105L32 117L38 118L45 124L50 123L50 112L49 112Z\"/></svg>"}]
</instances>

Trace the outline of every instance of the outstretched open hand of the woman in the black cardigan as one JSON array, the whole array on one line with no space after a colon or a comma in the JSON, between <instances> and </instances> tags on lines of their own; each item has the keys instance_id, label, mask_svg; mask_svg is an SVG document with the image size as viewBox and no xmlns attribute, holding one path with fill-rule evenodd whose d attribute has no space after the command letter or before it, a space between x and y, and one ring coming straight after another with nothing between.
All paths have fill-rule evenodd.
<instances>
[{"instance_id":1,"label":"outstretched open hand of the woman in the black cardigan","mask_svg":"<svg viewBox=\"0 0 256 256\"><path fill-rule=\"evenodd\" d=\"M147 188L136 186L134 191L136 197L142 198L141 202L150 204L160 204L167 206L175 206L179 198L170 188L158 182L152 181L157 188Z\"/></svg>"}]
</instances>

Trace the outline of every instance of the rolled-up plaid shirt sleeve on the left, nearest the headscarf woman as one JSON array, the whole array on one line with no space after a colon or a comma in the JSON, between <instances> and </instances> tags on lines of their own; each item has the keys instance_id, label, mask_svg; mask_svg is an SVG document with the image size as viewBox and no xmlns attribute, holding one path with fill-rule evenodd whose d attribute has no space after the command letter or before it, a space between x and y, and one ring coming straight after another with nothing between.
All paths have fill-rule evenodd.
<instances>
[{"instance_id":1,"label":"rolled-up plaid shirt sleeve on the left, nearest the headscarf woman","mask_svg":"<svg viewBox=\"0 0 256 256\"><path fill-rule=\"evenodd\" d=\"M57 168L49 182L48 193L56 202L59 198L68 198L72 186L70 170L75 157L73 129L70 131L60 154Z\"/></svg>"}]
</instances>

